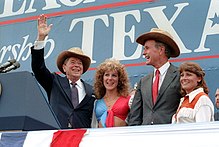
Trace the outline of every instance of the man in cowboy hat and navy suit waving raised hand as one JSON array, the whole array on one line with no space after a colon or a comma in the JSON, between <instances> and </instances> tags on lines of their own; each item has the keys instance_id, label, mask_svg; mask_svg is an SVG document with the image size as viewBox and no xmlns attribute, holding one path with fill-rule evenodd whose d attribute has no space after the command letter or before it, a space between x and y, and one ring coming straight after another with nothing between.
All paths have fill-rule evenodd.
<instances>
[{"instance_id":1,"label":"man in cowboy hat and navy suit waving raised hand","mask_svg":"<svg viewBox=\"0 0 219 147\"><path fill-rule=\"evenodd\" d=\"M88 70L91 59L80 48L70 48L57 58L57 67L66 76L50 73L44 61L44 39L51 27L47 26L46 17L40 15L38 38L31 47L32 70L45 89L61 128L90 128L95 98L92 86L80 78Z\"/></svg>"}]
</instances>

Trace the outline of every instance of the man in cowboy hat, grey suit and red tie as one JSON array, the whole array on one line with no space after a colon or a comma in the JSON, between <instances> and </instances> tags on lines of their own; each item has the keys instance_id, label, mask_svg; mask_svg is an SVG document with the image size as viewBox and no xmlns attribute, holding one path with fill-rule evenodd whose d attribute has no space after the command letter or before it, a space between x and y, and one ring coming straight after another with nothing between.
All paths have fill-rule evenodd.
<instances>
[{"instance_id":1,"label":"man in cowboy hat, grey suit and red tie","mask_svg":"<svg viewBox=\"0 0 219 147\"><path fill-rule=\"evenodd\" d=\"M180 50L172 36L153 28L136 40L144 47L146 65L154 72L140 79L133 99L128 125L171 123L181 98L178 68L168 60L177 57Z\"/></svg>"}]
</instances>

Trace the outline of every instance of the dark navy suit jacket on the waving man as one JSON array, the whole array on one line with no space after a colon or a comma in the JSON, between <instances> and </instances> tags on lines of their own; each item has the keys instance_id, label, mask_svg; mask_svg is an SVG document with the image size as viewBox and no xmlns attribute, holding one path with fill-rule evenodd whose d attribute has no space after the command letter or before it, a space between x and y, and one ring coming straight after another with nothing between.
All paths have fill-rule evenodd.
<instances>
[{"instance_id":1,"label":"dark navy suit jacket on the waving man","mask_svg":"<svg viewBox=\"0 0 219 147\"><path fill-rule=\"evenodd\" d=\"M95 99L92 86L82 80L86 96L74 108L71 103L71 90L68 79L58 74L50 73L45 66L44 49L34 50L32 47L31 54L32 70L37 81L45 89L49 103L61 124L61 128L68 128L69 119L72 121L72 128L90 128Z\"/></svg>"}]
</instances>

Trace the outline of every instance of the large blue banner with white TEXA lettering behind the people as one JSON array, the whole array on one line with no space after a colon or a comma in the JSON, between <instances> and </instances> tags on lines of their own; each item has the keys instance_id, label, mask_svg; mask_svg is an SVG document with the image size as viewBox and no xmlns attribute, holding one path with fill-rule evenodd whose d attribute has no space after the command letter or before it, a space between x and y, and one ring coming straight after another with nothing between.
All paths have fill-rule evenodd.
<instances>
[{"instance_id":1,"label":"large blue banner with white TEXA lettering behind the people","mask_svg":"<svg viewBox=\"0 0 219 147\"><path fill-rule=\"evenodd\" d=\"M1 0L0 63L15 58L21 64L18 71L31 71L36 19L45 14L53 24L45 50L51 72L59 72L58 54L77 46L92 59L83 75L87 82L93 82L101 62L116 58L127 66L134 84L152 70L135 39L158 27L170 32L180 47L180 56L170 61L177 66L188 60L199 63L213 98L219 87L218 8L218 0Z\"/></svg>"}]
</instances>

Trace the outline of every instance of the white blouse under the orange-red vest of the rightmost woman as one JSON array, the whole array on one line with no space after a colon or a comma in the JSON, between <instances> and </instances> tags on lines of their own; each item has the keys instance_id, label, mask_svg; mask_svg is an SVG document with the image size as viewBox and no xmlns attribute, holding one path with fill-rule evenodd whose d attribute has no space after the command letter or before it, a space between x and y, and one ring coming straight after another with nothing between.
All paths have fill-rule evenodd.
<instances>
[{"instance_id":1,"label":"white blouse under the orange-red vest of the rightmost woman","mask_svg":"<svg viewBox=\"0 0 219 147\"><path fill-rule=\"evenodd\" d=\"M204 92L203 88L198 88L187 94L186 96L189 96L189 103L191 103L195 96L200 92ZM182 105L183 101L184 98L181 98L179 107ZM176 114L172 117L172 123L214 121L214 105L208 96L202 95L195 104L194 109L183 107L178 111L177 118L175 118L175 115Z\"/></svg>"}]
</instances>

